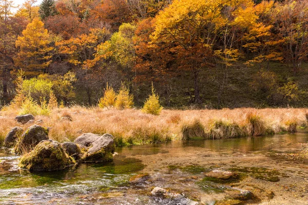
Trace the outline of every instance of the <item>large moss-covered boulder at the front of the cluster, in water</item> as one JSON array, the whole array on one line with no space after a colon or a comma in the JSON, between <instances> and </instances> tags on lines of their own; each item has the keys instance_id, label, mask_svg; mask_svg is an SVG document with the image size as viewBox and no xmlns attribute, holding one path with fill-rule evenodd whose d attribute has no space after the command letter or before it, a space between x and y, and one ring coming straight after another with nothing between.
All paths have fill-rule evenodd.
<instances>
[{"instance_id":1,"label":"large moss-covered boulder at the front of the cluster, in water","mask_svg":"<svg viewBox=\"0 0 308 205\"><path fill-rule=\"evenodd\" d=\"M18 166L30 171L55 171L74 164L74 159L66 154L61 144L49 139L41 141L34 150L23 155Z\"/></svg>"}]
</instances>

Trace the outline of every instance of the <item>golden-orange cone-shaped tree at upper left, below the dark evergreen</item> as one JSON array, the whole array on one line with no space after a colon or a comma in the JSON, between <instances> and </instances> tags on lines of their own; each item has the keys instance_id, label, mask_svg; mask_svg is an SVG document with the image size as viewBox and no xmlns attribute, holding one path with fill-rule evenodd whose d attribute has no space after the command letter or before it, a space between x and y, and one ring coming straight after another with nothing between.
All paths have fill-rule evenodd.
<instances>
[{"instance_id":1,"label":"golden-orange cone-shaped tree at upper left, below the dark evergreen","mask_svg":"<svg viewBox=\"0 0 308 205\"><path fill-rule=\"evenodd\" d=\"M16 66L24 68L26 72L46 69L51 63L50 51L53 48L49 46L49 33L44 28L44 23L36 17L22 34L16 40L16 47L19 49Z\"/></svg>"}]
</instances>

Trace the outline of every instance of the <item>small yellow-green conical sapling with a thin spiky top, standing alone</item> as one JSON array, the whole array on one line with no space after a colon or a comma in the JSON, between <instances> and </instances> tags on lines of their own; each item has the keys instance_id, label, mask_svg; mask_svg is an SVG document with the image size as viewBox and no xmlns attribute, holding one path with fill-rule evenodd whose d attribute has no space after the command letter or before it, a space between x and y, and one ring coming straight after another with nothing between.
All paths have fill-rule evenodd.
<instances>
[{"instance_id":1,"label":"small yellow-green conical sapling with a thin spiky top, standing alone","mask_svg":"<svg viewBox=\"0 0 308 205\"><path fill-rule=\"evenodd\" d=\"M142 112L159 115L163 109L163 107L159 104L159 96L155 94L155 90L152 82L152 94L146 99L144 106L142 108Z\"/></svg>"}]
</instances>

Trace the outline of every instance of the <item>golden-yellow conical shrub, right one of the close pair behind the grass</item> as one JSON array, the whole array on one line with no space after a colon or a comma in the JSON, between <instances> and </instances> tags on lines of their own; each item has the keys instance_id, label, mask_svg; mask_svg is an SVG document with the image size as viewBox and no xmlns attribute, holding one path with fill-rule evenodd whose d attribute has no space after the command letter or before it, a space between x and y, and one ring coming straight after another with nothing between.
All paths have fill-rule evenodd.
<instances>
[{"instance_id":1,"label":"golden-yellow conical shrub, right one of the close pair behind the grass","mask_svg":"<svg viewBox=\"0 0 308 205\"><path fill-rule=\"evenodd\" d=\"M115 99L115 108L123 110L133 106L133 96L129 94L129 89L122 84L117 98Z\"/></svg>"}]
</instances>

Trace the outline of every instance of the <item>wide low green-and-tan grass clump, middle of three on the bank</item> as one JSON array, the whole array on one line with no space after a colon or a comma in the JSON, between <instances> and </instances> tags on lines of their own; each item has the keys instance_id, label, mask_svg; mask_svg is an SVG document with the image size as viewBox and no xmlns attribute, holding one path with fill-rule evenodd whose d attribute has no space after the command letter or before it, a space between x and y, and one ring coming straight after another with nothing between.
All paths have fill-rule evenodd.
<instances>
[{"instance_id":1,"label":"wide low green-and-tan grass clump, middle of three on the bank","mask_svg":"<svg viewBox=\"0 0 308 205\"><path fill-rule=\"evenodd\" d=\"M213 120L208 136L213 139L242 137L245 132L238 124L226 120Z\"/></svg>"}]
</instances>

